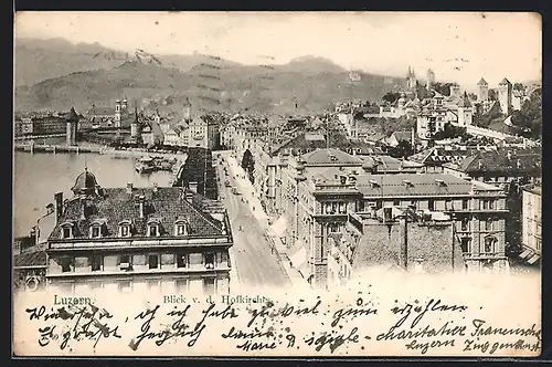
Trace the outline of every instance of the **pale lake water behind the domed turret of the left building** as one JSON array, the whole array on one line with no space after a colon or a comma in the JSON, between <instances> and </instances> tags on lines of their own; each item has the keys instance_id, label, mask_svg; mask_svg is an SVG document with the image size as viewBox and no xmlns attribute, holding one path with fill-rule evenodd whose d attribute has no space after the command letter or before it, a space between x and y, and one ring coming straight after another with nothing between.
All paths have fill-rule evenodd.
<instances>
[{"instance_id":1,"label":"pale lake water behind the domed turret of the left building","mask_svg":"<svg viewBox=\"0 0 552 367\"><path fill-rule=\"evenodd\" d=\"M71 198L76 177L87 167L96 176L99 186L150 187L168 186L172 174L158 171L139 175L131 157L114 157L97 154L31 154L17 151L13 161L13 235L26 235L36 219L53 202L55 192Z\"/></svg>"}]
</instances>

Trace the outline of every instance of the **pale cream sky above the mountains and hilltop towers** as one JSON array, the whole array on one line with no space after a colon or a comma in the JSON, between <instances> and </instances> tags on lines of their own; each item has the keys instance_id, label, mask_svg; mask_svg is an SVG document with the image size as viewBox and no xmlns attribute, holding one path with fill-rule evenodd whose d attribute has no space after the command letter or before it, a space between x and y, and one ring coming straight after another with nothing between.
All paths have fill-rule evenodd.
<instances>
[{"instance_id":1,"label":"pale cream sky above the mountains and hilltop towers","mask_svg":"<svg viewBox=\"0 0 552 367\"><path fill-rule=\"evenodd\" d=\"M496 86L541 78L538 13L513 12L21 12L18 38L65 38L153 54L244 64L327 57L348 70Z\"/></svg>"}]
</instances>

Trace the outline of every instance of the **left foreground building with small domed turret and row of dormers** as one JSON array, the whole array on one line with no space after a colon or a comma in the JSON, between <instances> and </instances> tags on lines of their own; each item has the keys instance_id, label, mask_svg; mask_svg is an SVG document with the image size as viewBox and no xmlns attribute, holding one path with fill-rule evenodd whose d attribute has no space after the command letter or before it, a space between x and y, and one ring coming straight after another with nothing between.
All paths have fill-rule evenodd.
<instances>
[{"instance_id":1,"label":"left foreground building with small domed turret and row of dormers","mask_svg":"<svg viewBox=\"0 0 552 367\"><path fill-rule=\"evenodd\" d=\"M225 211L181 188L102 188L81 174L47 241L47 286L68 293L227 293L233 239Z\"/></svg>"}]
</instances>

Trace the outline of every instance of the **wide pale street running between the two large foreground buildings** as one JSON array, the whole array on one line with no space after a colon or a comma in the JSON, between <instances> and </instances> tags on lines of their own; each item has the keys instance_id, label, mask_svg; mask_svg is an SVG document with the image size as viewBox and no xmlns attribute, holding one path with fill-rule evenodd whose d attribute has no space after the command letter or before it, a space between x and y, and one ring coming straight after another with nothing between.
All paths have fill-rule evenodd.
<instances>
[{"instance_id":1,"label":"wide pale street running between the two large foreground buildings","mask_svg":"<svg viewBox=\"0 0 552 367\"><path fill-rule=\"evenodd\" d=\"M221 199L229 212L234 235L230 256L233 276L237 276L236 283L244 289L290 286L291 282L270 249L265 231L245 202L246 196L232 193L233 187L241 193L243 190L233 178L231 169L227 168L227 164L220 165L219 159L216 161ZM224 167L227 168L227 176ZM230 181L231 187L225 187L225 180Z\"/></svg>"}]
</instances>

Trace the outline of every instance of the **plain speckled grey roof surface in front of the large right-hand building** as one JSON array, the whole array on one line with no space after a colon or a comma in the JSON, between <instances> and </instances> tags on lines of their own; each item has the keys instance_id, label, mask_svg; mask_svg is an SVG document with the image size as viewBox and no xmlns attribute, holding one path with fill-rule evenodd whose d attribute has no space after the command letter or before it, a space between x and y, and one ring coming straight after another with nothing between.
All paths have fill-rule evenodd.
<instances>
[{"instance_id":1,"label":"plain speckled grey roof surface in front of the large right-hand building","mask_svg":"<svg viewBox=\"0 0 552 367\"><path fill-rule=\"evenodd\" d=\"M458 240L453 234L452 223L443 227L422 227L408 223L407 268L414 269L420 262L427 273L464 270L464 259ZM365 226L367 232L355 245L352 265L355 270L369 266L397 265L401 242L400 224L391 231L388 226L374 223ZM453 251L454 249L454 251Z\"/></svg>"}]
</instances>

